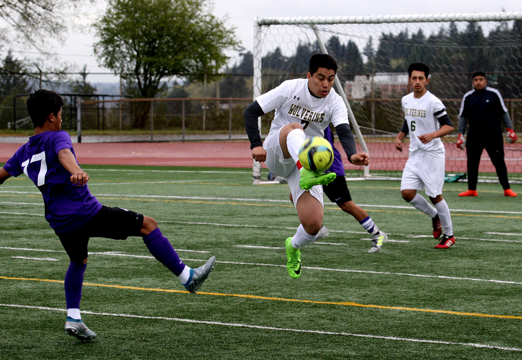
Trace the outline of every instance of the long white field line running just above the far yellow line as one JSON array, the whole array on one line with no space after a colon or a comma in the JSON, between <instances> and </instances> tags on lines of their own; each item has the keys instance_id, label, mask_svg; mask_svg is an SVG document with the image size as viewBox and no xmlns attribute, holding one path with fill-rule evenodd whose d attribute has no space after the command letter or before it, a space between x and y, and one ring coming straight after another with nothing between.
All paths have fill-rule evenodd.
<instances>
[{"instance_id":1,"label":"long white field line running just above the far yellow line","mask_svg":"<svg viewBox=\"0 0 522 360\"><path fill-rule=\"evenodd\" d=\"M40 194L40 192L29 191L0 191L0 193L17 193L17 194ZM258 201L258 202L276 202L291 204L290 200L274 200L274 199L245 199L245 198L210 198L205 196L176 196L176 195L142 195L142 194L94 194L95 196L121 196L126 198L157 198L157 199L186 199L186 200L222 200L222 201ZM413 206L399 206L399 205L373 205L373 204L358 204L365 207L381 207L381 208L399 208L414 210ZM522 211L495 211L495 210L467 210L467 209L450 209L452 212L469 212L469 213L484 213L484 214L516 214L522 215Z\"/></svg>"}]
</instances>

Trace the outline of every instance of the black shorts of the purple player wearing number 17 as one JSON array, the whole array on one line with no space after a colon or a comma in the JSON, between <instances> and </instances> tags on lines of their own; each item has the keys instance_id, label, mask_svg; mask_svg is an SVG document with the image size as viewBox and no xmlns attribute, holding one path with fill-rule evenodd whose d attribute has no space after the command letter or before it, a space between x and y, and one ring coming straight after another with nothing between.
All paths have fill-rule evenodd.
<instances>
[{"instance_id":1,"label":"black shorts of the purple player wearing number 17","mask_svg":"<svg viewBox=\"0 0 522 360\"><path fill-rule=\"evenodd\" d=\"M102 206L87 224L70 233L56 235L70 261L83 262L87 259L89 238L125 240L129 236L141 236L142 226L143 215L120 207Z\"/></svg>"}]
</instances>

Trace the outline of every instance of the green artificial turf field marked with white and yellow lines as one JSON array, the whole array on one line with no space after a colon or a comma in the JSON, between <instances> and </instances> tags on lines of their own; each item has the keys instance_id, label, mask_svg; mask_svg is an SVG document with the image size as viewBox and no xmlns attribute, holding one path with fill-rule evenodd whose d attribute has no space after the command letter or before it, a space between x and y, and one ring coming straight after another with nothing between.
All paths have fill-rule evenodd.
<instances>
[{"instance_id":1,"label":"green artificial turf field marked with white and yellow lines","mask_svg":"<svg viewBox=\"0 0 522 360\"><path fill-rule=\"evenodd\" d=\"M216 255L216 267L188 294L140 238L91 239L81 310L98 338L80 342L63 330L69 261L41 195L24 176L9 179L0 187L2 359L522 356L522 196L503 196L499 184L479 184L476 198L458 196L465 183L444 185L456 245L437 250L431 220L402 200L399 182L350 181L390 241L367 253L369 234L325 197L331 234L302 249L293 280L283 243L299 223L286 184L254 186L250 169L84 169L104 205L154 217L187 265Z\"/></svg>"}]
</instances>

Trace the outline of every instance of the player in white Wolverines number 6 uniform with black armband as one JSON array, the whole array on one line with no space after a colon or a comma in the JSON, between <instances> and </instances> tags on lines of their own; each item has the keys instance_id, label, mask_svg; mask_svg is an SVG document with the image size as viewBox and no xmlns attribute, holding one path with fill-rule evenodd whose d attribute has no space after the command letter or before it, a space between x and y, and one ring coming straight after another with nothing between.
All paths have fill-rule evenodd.
<instances>
[{"instance_id":1,"label":"player in white Wolverines number 6 uniform with black armband","mask_svg":"<svg viewBox=\"0 0 522 360\"><path fill-rule=\"evenodd\" d=\"M402 151L402 139L410 133L409 157L400 183L402 199L432 218L433 237L444 236L436 249L448 249L455 244L452 218L442 196L446 150L441 137L453 131L446 108L441 100L426 90L430 82L430 68L423 63L408 67L409 82L413 92L402 98L404 125L395 139L395 147ZM425 189L435 205L417 193Z\"/></svg>"}]
</instances>

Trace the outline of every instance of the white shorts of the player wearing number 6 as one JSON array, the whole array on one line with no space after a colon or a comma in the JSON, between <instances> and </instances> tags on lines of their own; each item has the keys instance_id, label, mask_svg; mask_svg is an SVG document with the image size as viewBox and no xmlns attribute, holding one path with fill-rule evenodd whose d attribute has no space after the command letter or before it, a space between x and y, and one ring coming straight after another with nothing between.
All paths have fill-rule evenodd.
<instances>
[{"instance_id":1,"label":"white shorts of the player wearing number 6","mask_svg":"<svg viewBox=\"0 0 522 360\"><path fill-rule=\"evenodd\" d=\"M400 190L424 190L430 198L442 194L446 159L426 152L410 154L400 181Z\"/></svg>"}]
</instances>

